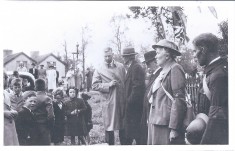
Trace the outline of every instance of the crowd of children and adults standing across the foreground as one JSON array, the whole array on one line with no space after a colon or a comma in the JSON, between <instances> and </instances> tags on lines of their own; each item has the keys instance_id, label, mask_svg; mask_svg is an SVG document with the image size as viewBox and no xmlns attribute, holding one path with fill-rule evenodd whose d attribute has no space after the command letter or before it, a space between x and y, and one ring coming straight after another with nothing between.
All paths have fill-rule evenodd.
<instances>
[{"instance_id":1,"label":"crowd of children and adults standing across the foreground","mask_svg":"<svg viewBox=\"0 0 235 151\"><path fill-rule=\"evenodd\" d=\"M199 93L204 95L204 102L209 102L208 109L198 110L209 120L197 142L228 144L227 57L219 55L218 38L211 33L195 37L193 46L195 58L204 66ZM144 54L147 71L137 61L134 48L123 49L124 64L114 60L111 48L104 49L104 63L89 81L92 90L102 97L105 142L109 145L115 144L116 130L121 145L185 144L186 79L183 67L176 62L181 52L166 39L152 48ZM7 76L4 78L6 81ZM35 82L35 91L22 94L21 83L15 78L11 82L13 93L4 91L5 145L60 144L65 133L72 144L75 136L86 144L92 129L92 109L87 102L91 96L82 93L80 97L79 89L69 87L65 101L62 89L53 88L52 93L46 93L45 80L41 78ZM196 129L192 131L196 136Z\"/></svg>"}]
</instances>

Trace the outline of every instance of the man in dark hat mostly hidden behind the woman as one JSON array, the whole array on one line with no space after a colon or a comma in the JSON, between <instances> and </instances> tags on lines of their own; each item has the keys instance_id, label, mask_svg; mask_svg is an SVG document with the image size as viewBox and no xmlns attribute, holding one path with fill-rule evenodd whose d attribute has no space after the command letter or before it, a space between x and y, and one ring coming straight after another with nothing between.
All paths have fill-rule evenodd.
<instances>
[{"instance_id":1,"label":"man in dark hat mostly hidden behind the woman","mask_svg":"<svg viewBox=\"0 0 235 151\"><path fill-rule=\"evenodd\" d=\"M143 63L146 63L148 72L150 72L148 83L146 84L146 91L144 95L144 103L143 103L143 114L141 118L141 144L147 145L147 138L148 138L148 115L149 115L149 101L148 101L148 93L149 90L154 82L154 80L158 77L159 73L161 72L161 67L158 66L157 60L156 60L156 51L152 50L149 52L146 52L144 54L144 61ZM147 73L146 73L147 74Z\"/></svg>"}]
</instances>

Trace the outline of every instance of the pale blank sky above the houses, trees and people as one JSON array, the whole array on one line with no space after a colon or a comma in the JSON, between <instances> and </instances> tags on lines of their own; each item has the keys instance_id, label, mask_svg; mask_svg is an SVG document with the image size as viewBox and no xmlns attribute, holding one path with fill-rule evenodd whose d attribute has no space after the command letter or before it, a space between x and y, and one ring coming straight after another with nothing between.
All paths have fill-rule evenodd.
<instances>
[{"instance_id":1,"label":"pale blank sky above the houses, trees and people","mask_svg":"<svg viewBox=\"0 0 235 151\"><path fill-rule=\"evenodd\" d=\"M139 6L144 6L143 3ZM206 5L183 5L187 15L187 34L190 39L203 32L212 32L219 36L217 24L228 18L228 5L215 6L218 18L215 18ZM146 4L145 4L146 5ZM155 3L150 5L159 6ZM40 54L64 53L64 42L69 53L81 45L81 29L88 26L89 43L86 49L86 63L96 65L102 62L102 50L113 37L110 19L116 14L131 14L128 6L138 6L122 2L35 2L10 1L1 5L2 48L13 52L40 51ZM197 6L201 6L201 13ZM154 31L143 20L131 20L126 31L133 41L136 51L146 46L151 49L154 43ZM148 30L150 29L150 30ZM98 58L98 59L97 59Z\"/></svg>"}]
</instances>

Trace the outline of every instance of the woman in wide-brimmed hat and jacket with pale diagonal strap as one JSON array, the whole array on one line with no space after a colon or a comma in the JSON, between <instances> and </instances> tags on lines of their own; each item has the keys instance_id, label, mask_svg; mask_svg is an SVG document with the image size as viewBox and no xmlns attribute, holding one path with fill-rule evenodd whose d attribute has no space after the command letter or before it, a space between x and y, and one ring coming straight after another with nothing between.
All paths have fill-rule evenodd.
<instances>
[{"instance_id":1,"label":"woman in wide-brimmed hat and jacket with pale diagonal strap","mask_svg":"<svg viewBox=\"0 0 235 151\"><path fill-rule=\"evenodd\" d=\"M162 71L149 93L149 145L184 144L185 73L176 63L180 56L175 43L166 39L152 46Z\"/></svg>"}]
</instances>

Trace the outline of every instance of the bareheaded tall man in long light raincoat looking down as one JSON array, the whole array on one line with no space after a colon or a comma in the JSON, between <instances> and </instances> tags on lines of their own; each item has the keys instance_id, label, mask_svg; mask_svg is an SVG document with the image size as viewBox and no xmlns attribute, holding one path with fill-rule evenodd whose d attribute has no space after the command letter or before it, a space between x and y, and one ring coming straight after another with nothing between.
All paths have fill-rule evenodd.
<instances>
[{"instance_id":1,"label":"bareheaded tall man in long light raincoat looking down","mask_svg":"<svg viewBox=\"0 0 235 151\"><path fill-rule=\"evenodd\" d=\"M105 141L109 145L114 145L114 130L119 130L120 142L123 144L124 79L124 66L113 59L111 48L104 49L104 64L94 72L92 89L99 91L103 96L102 116Z\"/></svg>"}]
</instances>

